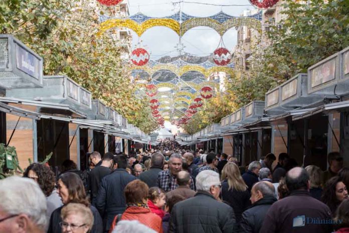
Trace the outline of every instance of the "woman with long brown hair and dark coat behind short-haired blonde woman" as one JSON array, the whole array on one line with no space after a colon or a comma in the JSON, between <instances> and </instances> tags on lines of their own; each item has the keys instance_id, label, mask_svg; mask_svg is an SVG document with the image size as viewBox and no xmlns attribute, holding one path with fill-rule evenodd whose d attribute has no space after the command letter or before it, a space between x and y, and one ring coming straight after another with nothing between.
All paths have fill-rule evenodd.
<instances>
[{"instance_id":1,"label":"woman with long brown hair and dark coat behind short-haired blonde woman","mask_svg":"<svg viewBox=\"0 0 349 233\"><path fill-rule=\"evenodd\" d=\"M102 218L99 215L98 210L94 206L90 205L89 201L87 200L84 184L81 178L77 174L70 173L70 172L62 174L59 177L57 182L57 193L61 197L64 206L59 207L55 211L53 211L50 218L50 222L49 222L49 229L47 231L48 233L62 232L62 226L61 226L62 223L60 223L62 222L61 212L62 212L62 208L64 208L69 203L83 204L89 209L91 209L94 222L90 232L91 233L103 232Z\"/></svg>"}]
</instances>

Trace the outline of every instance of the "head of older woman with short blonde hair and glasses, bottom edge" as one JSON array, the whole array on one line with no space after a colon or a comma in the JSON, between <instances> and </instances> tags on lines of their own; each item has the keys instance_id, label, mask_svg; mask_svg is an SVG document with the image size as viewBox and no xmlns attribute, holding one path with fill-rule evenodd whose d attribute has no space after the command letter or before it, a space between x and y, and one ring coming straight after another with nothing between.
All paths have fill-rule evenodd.
<instances>
[{"instance_id":1,"label":"head of older woman with short blonde hair and glasses, bottom edge","mask_svg":"<svg viewBox=\"0 0 349 233\"><path fill-rule=\"evenodd\" d=\"M59 224L62 233L87 233L93 225L93 214L89 207L84 204L69 203L62 208Z\"/></svg>"}]
</instances>

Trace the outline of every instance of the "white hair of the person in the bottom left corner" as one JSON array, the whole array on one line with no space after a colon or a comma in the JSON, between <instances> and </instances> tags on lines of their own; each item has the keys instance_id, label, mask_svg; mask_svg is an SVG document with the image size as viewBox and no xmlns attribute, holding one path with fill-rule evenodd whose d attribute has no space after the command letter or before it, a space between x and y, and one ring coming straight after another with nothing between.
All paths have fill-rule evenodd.
<instances>
[{"instance_id":1,"label":"white hair of the person in the bottom left corner","mask_svg":"<svg viewBox=\"0 0 349 233\"><path fill-rule=\"evenodd\" d=\"M8 214L26 214L39 228L46 229L46 197L32 179L11 176L0 180L0 209Z\"/></svg>"}]
</instances>

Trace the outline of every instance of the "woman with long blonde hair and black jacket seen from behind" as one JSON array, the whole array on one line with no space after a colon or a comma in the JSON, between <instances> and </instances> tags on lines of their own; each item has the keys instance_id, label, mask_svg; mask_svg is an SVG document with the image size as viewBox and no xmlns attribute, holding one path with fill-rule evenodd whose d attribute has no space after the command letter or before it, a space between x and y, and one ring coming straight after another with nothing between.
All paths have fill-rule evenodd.
<instances>
[{"instance_id":1,"label":"woman with long blonde hair and black jacket seen from behind","mask_svg":"<svg viewBox=\"0 0 349 233\"><path fill-rule=\"evenodd\" d=\"M247 185L241 177L239 167L235 163L228 162L223 167L221 182L222 200L234 209L236 225L240 229L241 215L251 205L251 202Z\"/></svg>"}]
</instances>

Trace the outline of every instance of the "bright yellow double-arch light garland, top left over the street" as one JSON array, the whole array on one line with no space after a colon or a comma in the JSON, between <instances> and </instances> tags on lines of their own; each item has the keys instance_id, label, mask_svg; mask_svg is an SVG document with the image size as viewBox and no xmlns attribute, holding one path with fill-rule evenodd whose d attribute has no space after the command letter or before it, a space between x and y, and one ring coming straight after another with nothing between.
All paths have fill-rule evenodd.
<instances>
[{"instance_id":1,"label":"bright yellow double-arch light garland, top left over the street","mask_svg":"<svg viewBox=\"0 0 349 233\"><path fill-rule=\"evenodd\" d=\"M180 35L180 23L172 19L149 19L144 21L142 24L137 24L135 21L130 19L109 19L101 23L97 36L102 35L106 31L112 28L125 27L133 30L138 36L141 36L146 30L152 27L163 26L172 29L178 35Z\"/></svg>"}]
</instances>

